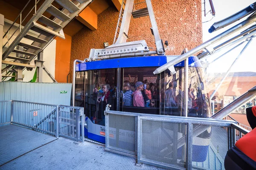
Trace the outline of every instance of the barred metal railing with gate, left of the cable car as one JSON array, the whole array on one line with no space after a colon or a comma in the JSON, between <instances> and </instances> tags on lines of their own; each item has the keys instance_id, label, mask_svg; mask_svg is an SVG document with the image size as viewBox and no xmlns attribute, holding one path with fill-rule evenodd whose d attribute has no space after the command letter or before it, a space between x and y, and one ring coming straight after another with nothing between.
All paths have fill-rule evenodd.
<instances>
[{"instance_id":1,"label":"barred metal railing with gate, left of the cable car","mask_svg":"<svg viewBox=\"0 0 256 170\"><path fill-rule=\"evenodd\" d=\"M0 101L0 126L15 124L84 141L84 108L17 100Z\"/></svg>"}]
</instances>

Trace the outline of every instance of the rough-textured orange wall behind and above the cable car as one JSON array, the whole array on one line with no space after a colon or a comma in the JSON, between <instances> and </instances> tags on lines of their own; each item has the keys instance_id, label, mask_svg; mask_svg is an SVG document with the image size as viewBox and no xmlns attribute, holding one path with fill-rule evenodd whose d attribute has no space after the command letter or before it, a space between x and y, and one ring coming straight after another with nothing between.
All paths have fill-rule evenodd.
<instances>
[{"instance_id":1,"label":"rough-textured orange wall behind and above the cable car","mask_svg":"<svg viewBox=\"0 0 256 170\"><path fill-rule=\"evenodd\" d=\"M183 48L192 49L202 43L201 0L151 0L160 37L168 40L167 55L180 55ZM91 48L104 48L113 43L119 12L109 7L98 16L98 30L81 29L72 38L70 73L74 59L88 58ZM149 16L131 18L128 41L146 40L155 48ZM72 81L72 75L70 76Z\"/></svg>"}]
</instances>

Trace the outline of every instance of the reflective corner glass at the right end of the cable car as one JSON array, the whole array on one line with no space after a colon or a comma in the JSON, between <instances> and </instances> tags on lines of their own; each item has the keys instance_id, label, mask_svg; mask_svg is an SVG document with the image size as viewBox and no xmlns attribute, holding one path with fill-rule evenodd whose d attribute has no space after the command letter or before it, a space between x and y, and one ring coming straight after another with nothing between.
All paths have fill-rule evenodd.
<instances>
[{"instance_id":1,"label":"reflective corner glass at the right end of the cable car","mask_svg":"<svg viewBox=\"0 0 256 170\"><path fill-rule=\"evenodd\" d=\"M161 77L161 114L185 116L184 112L184 68L175 68L176 73L165 71ZM189 67L188 116L210 117L209 97L204 71Z\"/></svg>"}]
</instances>

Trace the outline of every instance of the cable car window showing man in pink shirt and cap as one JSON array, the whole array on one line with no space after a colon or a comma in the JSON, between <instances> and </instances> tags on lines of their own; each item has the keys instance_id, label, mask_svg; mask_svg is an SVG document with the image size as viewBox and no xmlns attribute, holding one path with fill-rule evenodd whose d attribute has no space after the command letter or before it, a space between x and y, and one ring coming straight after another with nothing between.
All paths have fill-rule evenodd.
<instances>
[{"instance_id":1,"label":"cable car window showing man in pink shirt and cap","mask_svg":"<svg viewBox=\"0 0 256 170\"><path fill-rule=\"evenodd\" d=\"M160 88L156 68L124 68L121 71L120 111L159 114Z\"/></svg>"}]
</instances>

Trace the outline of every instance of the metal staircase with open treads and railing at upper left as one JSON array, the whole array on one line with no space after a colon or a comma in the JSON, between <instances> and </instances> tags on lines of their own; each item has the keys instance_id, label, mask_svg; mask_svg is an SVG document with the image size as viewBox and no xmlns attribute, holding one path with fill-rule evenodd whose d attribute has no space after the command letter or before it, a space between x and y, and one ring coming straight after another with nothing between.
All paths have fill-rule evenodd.
<instances>
[{"instance_id":1,"label":"metal staircase with open treads and railing at upper left","mask_svg":"<svg viewBox=\"0 0 256 170\"><path fill-rule=\"evenodd\" d=\"M28 6L30 1L31 0L29 0L26 6ZM2 56L2 63L5 64L6 67L2 69L1 74L4 72L8 73L3 75L3 78L12 77L10 76L12 71L9 71L9 69L13 67L15 68L14 71L16 74L19 72L17 70L20 69L35 68L36 65L30 65L29 62L31 62L56 36L65 39L62 29L93 0L45 0L37 10L39 1L40 0L35 0L35 6L30 10L29 14L31 14L33 9L35 13L23 29L21 28L22 23L29 16L29 14L27 14L26 17L23 18L22 15L26 6L3 36L7 36L7 42L3 45L3 48L7 45L7 49L3 52ZM44 16L48 16L49 14L51 17ZM20 19L20 26L10 35L11 28L13 28L18 19ZM18 30L20 33L9 45L11 38ZM31 30L35 31L38 36L29 34ZM21 42L23 39L28 39L32 43ZM16 53L16 57L10 56L11 52ZM10 59L12 59L12 61L10 61ZM47 70L45 69L45 71Z\"/></svg>"}]
</instances>

